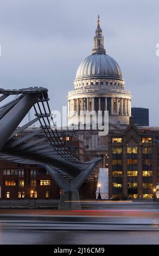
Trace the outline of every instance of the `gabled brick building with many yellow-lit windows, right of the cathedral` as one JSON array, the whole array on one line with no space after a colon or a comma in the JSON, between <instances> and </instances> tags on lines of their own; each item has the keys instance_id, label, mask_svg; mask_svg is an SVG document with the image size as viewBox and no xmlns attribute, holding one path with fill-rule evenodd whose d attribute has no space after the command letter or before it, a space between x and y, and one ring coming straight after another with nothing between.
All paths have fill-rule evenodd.
<instances>
[{"instance_id":1,"label":"gabled brick building with many yellow-lit windows, right of the cathedral","mask_svg":"<svg viewBox=\"0 0 159 256\"><path fill-rule=\"evenodd\" d=\"M109 132L109 197L153 198L159 184L159 128L137 127Z\"/></svg>"}]
</instances>

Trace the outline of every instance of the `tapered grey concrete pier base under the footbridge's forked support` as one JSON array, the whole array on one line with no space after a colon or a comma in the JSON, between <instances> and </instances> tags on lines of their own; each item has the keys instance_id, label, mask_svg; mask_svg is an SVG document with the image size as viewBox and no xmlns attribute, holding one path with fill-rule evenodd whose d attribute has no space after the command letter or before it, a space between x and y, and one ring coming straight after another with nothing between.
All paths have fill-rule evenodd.
<instances>
[{"instance_id":1,"label":"tapered grey concrete pier base under the footbridge's forked support","mask_svg":"<svg viewBox=\"0 0 159 256\"><path fill-rule=\"evenodd\" d=\"M78 190L61 190L59 210L81 210Z\"/></svg>"}]
</instances>

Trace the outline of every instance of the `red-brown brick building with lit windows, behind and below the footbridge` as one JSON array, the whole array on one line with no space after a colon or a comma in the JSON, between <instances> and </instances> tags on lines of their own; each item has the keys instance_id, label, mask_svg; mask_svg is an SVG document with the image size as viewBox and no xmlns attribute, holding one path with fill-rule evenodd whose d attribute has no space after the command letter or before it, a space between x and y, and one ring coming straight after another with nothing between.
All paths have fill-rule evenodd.
<instances>
[{"instance_id":1,"label":"red-brown brick building with lit windows, behind and below the footbridge","mask_svg":"<svg viewBox=\"0 0 159 256\"><path fill-rule=\"evenodd\" d=\"M28 131L29 132L29 131ZM83 143L75 135L61 135L72 155L83 159ZM82 189L81 189L82 193ZM43 166L0 161L0 199L59 199L60 188Z\"/></svg>"}]
</instances>

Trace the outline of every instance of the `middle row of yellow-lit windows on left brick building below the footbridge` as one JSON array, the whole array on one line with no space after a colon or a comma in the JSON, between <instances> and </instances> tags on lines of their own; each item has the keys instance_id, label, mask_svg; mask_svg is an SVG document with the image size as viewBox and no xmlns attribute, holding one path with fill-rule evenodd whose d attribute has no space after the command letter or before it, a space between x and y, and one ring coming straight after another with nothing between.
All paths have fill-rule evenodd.
<instances>
[{"instance_id":1,"label":"middle row of yellow-lit windows on left brick building below the footbridge","mask_svg":"<svg viewBox=\"0 0 159 256\"><path fill-rule=\"evenodd\" d=\"M51 181L50 180L31 180L31 187L36 187L36 185L40 186L50 186ZM5 186L17 186L19 185L20 187L24 187L24 180L5 180L4 181Z\"/></svg>"}]
</instances>

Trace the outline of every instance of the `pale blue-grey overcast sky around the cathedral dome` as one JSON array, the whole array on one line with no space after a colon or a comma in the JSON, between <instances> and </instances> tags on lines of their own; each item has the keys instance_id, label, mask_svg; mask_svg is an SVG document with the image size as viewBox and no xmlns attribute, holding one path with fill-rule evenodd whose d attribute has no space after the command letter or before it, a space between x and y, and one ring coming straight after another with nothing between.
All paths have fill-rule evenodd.
<instances>
[{"instance_id":1,"label":"pale blue-grey overcast sky around the cathedral dome","mask_svg":"<svg viewBox=\"0 0 159 256\"><path fill-rule=\"evenodd\" d=\"M159 126L158 0L0 0L0 87L43 86L52 109L67 93L82 60L92 53L97 15L107 54L131 91L132 106L150 109Z\"/></svg>"}]
</instances>

